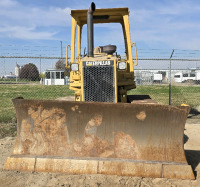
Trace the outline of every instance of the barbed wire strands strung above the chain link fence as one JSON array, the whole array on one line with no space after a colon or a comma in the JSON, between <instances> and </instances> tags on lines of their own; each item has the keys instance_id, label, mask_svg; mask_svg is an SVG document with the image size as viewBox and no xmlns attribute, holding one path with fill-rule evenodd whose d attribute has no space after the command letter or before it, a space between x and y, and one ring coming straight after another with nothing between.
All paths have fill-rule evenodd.
<instances>
[{"instance_id":1,"label":"barbed wire strands strung above the chain link fence","mask_svg":"<svg viewBox=\"0 0 200 187\"><path fill-rule=\"evenodd\" d=\"M81 48L83 54L85 47ZM141 49L138 48L138 57L140 58L169 58L172 49ZM124 55L125 49L123 44L117 45L118 54ZM51 56L59 57L66 55L66 47L47 46L47 45L0 45L0 56ZM134 55L134 52L133 52ZM200 50L174 49L173 58L200 58Z\"/></svg>"}]
</instances>

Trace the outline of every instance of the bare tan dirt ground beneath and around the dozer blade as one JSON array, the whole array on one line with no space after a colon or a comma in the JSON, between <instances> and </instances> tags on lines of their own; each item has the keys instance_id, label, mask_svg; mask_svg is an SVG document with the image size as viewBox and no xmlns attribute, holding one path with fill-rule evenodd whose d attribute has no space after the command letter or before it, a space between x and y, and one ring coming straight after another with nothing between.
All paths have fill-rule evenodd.
<instances>
[{"instance_id":1,"label":"bare tan dirt ground beneath and around the dozer blade","mask_svg":"<svg viewBox=\"0 0 200 187\"><path fill-rule=\"evenodd\" d=\"M191 115L184 132L185 153L196 180L122 177L109 175L66 175L56 173L31 173L3 171L7 156L11 155L15 137L0 139L0 187L42 186L200 186L200 117ZM9 135L9 134L8 134Z\"/></svg>"}]
</instances>

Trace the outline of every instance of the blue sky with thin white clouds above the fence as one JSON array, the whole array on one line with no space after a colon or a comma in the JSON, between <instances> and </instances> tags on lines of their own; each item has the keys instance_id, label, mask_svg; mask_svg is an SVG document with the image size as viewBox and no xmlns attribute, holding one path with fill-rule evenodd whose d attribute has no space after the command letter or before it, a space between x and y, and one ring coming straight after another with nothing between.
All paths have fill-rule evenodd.
<instances>
[{"instance_id":1,"label":"blue sky with thin white clouds above the fence","mask_svg":"<svg viewBox=\"0 0 200 187\"><path fill-rule=\"evenodd\" d=\"M128 7L131 39L140 49L200 50L199 0L99 0L96 8ZM71 9L87 0L1 0L0 45L70 44ZM86 28L83 30L86 46ZM102 35L102 32L106 34ZM95 26L95 45L123 45L120 25Z\"/></svg>"}]
</instances>

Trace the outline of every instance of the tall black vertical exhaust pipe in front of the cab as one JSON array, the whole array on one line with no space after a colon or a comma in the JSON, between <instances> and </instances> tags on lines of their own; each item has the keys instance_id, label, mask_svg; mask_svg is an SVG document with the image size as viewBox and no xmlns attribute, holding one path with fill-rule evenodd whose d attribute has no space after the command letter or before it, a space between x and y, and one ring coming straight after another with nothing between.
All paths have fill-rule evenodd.
<instances>
[{"instance_id":1,"label":"tall black vertical exhaust pipe in front of the cab","mask_svg":"<svg viewBox=\"0 0 200 187\"><path fill-rule=\"evenodd\" d=\"M91 3L87 12L87 37L88 37L88 57L93 57L94 53L94 25L93 13L96 9L94 2Z\"/></svg>"}]
</instances>

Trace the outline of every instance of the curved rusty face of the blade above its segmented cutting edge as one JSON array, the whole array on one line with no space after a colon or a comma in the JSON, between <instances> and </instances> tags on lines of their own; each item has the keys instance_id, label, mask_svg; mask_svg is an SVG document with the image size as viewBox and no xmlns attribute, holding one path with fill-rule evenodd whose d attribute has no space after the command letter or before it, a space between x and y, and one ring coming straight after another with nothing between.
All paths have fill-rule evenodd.
<instances>
[{"instance_id":1,"label":"curved rusty face of the blade above its segmented cutting edge","mask_svg":"<svg viewBox=\"0 0 200 187\"><path fill-rule=\"evenodd\" d=\"M12 156L187 164L183 133L188 107L25 99L13 103L18 129Z\"/></svg>"}]
</instances>

